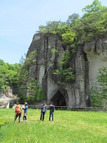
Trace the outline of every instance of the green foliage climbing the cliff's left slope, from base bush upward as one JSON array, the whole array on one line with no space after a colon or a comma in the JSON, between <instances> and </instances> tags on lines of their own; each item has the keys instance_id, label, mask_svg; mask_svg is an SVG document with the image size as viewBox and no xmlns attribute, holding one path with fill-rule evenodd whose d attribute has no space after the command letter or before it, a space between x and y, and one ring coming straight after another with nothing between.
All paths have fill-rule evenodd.
<instances>
[{"instance_id":1,"label":"green foliage climbing the cliff's left slope, from base bush upward","mask_svg":"<svg viewBox=\"0 0 107 143\"><path fill-rule=\"evenodd\" d=\"M25 101L28 103L34 103L35 101L41 101L46 98L45 92L41 87L39 87L37 80L29 76L29 68L36 64L36 57L36 51L32 51L27 56L20 72L19 96L23 103ZM26 92L29 97L24 96Z\"/></svg>"}]
</instances>

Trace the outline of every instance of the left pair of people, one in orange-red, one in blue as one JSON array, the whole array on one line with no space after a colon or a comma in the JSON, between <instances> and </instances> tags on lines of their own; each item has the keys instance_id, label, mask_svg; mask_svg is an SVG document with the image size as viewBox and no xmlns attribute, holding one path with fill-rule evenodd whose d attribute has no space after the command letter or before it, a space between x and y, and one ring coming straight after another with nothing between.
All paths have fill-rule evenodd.
<instances>
[{"instance_id":1,"label":"left pair of people, one in orange-red, one in blue","mask_svg":"<svg viewBox=\"0 0 107 143\"><path fill-rule=\"evenodd\" d=\"M16 103L16 107L15 107L15 121L16 121L17 117L19 117L19 123L20 123L20 118L21 118L21 114L22 114L22 109L24 110L23 122L26 122L27 121L27 110L28 110L27 102L25 102L24 107L21 107L19 105L19 102Z\"/></svg>"}]
</instances>

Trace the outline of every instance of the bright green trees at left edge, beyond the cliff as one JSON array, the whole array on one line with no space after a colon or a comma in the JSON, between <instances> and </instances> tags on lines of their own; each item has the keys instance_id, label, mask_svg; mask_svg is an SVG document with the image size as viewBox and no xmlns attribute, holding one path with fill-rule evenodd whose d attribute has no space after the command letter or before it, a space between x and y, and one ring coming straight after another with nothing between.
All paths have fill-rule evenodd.
<instances>
[{"instance_id":1,"label":"bright green trees at left edge, beyond the cliff","mask_svg":"<svg viewBox=\"0 0 107 143\"><path fill-rule=\"evenodd\" d=\"M8 64L0 60L0 90L6 92L7 86L18 88L20 64Z\"/></svg>"}]
</instances>

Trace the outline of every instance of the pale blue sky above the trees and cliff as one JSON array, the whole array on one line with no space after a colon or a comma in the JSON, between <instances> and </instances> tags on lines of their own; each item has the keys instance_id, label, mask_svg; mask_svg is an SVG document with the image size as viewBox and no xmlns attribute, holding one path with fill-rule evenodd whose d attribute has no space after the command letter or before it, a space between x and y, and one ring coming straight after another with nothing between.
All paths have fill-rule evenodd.
<instances>
[{"instance_id":1,"label":"pale blue sky above the trees and cliff","mask_svg":"<svg viewBox=\"0 0 107 143\"><path fill-rule=\"evenodd\" d=\"M93 0L0 0L0 59L19 63L37 33L48 21L66 21L82 16L82 8ZM100 0L107 6L107 0Z\"/></svg>"}]
</instances>

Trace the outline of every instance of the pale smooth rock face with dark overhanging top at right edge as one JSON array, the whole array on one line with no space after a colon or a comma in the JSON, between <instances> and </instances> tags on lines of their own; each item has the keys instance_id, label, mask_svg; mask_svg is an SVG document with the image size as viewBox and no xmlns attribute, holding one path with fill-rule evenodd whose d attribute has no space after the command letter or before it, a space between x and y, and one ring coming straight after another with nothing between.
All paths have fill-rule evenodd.
<instances>
[{"instance_id":1,"label":"pale smooth rock face with dark overhanging top at right edge","mask_svg":"<svg viewBox=\"0 0 107 143\"><path fill-rule=\"evenodd\" d=\"M89 61L89 88L98 88L99 69L107 67L107 38L86 43L84 51Z\"/></svg>"}]
</instances>

